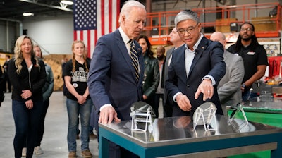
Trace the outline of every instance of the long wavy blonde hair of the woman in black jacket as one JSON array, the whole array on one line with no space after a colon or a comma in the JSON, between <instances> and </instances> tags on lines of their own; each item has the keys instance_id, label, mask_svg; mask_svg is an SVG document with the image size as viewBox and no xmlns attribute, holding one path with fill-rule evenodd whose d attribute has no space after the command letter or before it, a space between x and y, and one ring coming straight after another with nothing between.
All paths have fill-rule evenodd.
<instances>
[{"instance_id":1,"label":"long wavy blonde hair of the woman in black jacket","mask_svg":"<svg viewBox=\"0 0 282 158\"><path fill-rule=\"evenodd\" d=\"M23 66L21 65L21 63L23 62L23 51L20 49L20 46L23 44L23 40L24 39L30 39L30 43L31 43L31 47L32 47L32 49L31 49L31 56L36 60L37 66L40 66L39 63L38 63L38 59L35 58L35 52L33 51L33 43L32 43L31 38L28 37L27 35L21 35L16 40L15 48L13 49L13 52L15 53L14 61L15 61L15 66L17 68L17 70L16 70L17 74L20 74L20 71L23 68Z\"/></svg>"}]
</instances>

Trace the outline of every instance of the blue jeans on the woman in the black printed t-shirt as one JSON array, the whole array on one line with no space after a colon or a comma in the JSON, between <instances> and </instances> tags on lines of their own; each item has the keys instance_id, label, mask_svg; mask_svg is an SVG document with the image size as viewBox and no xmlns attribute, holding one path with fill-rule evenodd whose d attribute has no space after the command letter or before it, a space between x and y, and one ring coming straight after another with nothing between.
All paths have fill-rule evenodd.
<instances>
[{"instance_id":1,"label":"blue jeans on the woman in the black printed t-shirt","mask_svg":"<svg viewBox=\"0 0 282 158\"><path fill-rule=\"evenodd\" d=\"M68 111L68 152L76 152L78 115L80 115L81 124L81 151L89 150L89 123L92 105L91 99L87 99L85 104L78 104L76 100L66 99Z\"/></svg>"}]
</instances>

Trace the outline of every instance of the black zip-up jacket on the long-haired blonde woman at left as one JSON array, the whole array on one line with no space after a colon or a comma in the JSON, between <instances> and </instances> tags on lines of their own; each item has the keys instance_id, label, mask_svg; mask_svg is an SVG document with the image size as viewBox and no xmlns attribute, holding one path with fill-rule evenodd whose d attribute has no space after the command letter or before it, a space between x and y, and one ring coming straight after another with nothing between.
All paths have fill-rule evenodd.
<instances>
[{"instance_id":1,"label":"black zip-up jacket on the long-haired blonde woman at left","mask_svg":"<svg viewBox=\"0 0 282 158\"><path fill-rule=\"evenodd\" d=\"M39 60L39 59L38 59ZM25 60L21 63L23 66L20 74L16 73L15 60L12 59L8 65L8 76L11 80L12 90L12 99L18 101L27 101L32 99L32 101L43 101L42 97L42 87L46 82L46 72L44 62L39 60L39 65L36 64L34 56L32 56L32 69L30 73L28 72L27 65ZM32 97L28 99L22 99L20 96L22 90L30 90L32 92Z\"/></svg>"}]
</instances>

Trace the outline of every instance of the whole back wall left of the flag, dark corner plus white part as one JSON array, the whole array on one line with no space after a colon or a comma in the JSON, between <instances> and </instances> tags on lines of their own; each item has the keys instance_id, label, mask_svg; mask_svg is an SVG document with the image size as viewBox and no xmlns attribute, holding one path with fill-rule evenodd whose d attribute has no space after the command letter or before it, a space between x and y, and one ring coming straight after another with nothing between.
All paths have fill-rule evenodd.
<instances>
[{"instance_id":1,"label":"whole back wall left of the flag, dark corner plus white part","mask_svg":"<svg viewBox=\"0 0 282 158\"><path fill-rule=\"evenodd\" d=\"M0 19L0 51L13 52L21 32L34 39L42 47L44 55L71 54L73 42L73 15L40 18L27 21ZM8 41L8 42L7 42Z\"/></svg>"}]
</instances>

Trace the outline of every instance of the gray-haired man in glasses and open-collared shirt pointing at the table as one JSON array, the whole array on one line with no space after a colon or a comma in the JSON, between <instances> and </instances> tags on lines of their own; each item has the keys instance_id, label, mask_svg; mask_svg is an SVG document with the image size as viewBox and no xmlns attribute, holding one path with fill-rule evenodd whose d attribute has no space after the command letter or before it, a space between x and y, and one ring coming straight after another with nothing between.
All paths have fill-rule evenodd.
<instances>
[{"instance_id":1,"label":"gray-haired man in glasses and open-collared shirt pointing at the table","mask_svg":"<svg viewBox=\"0 0 282 158\"><path fill-rule=\"evenodd\" d=\"M174 23L185 44L173 51L166 79L168 97L177 103L173 116L192 116L204 102L213 102L216 114L223 115L216 88L226 73L222 44L202 35L193 11L180 11Z\"/></svg>"}]
</instances>

